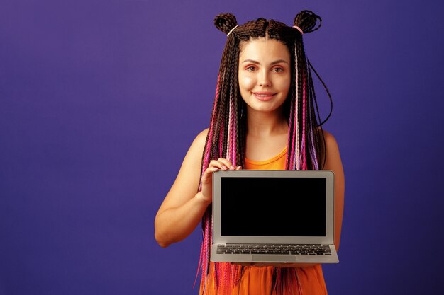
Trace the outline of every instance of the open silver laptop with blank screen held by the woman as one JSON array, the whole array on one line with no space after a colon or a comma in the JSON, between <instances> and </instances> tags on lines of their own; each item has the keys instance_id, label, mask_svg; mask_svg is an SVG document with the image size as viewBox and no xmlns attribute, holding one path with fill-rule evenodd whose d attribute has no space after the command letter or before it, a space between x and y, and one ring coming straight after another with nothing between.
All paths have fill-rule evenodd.
<instances>
[{"instance_id":1,"label":"open silver laptop with blank screen held by the woman","mask_svg":"<svg viewBox=\"0 0 444 295\"><path fill-rule=\"evenodd\" d=\"M254 265L338 263L331 170L213 173L210 260Z\"/></svg>"}]
</instances>

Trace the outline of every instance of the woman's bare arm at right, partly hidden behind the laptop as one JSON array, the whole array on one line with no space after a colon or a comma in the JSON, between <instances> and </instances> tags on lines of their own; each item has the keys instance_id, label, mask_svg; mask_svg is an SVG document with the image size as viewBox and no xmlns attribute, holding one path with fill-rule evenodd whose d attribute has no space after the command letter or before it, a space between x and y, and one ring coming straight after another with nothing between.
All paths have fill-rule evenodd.
<instances>
[{"instance_id":1,"label":"woman's bare arm at right, partly hidden behind the laptop","mask_svg":"<svg viewBox=\"0 0 444 295\"><path fill-rule=\"evenodd\" d=\"M335 173L335 236L334 243L336 250L339 250L340 232L343 224L344 212L344 192L345 192L345 178L343 163L340 160L338 143L332 134L323 132L326 140L326 165L325 170L332 170Z\"/></svg>"}]
</instances>

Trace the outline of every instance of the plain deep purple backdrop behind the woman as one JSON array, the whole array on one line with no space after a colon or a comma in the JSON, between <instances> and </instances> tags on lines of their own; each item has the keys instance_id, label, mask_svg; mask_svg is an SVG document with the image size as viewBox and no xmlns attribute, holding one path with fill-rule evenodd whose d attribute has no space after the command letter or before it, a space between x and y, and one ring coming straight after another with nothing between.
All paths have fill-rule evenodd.
<instances>
[{"instance_id":1,"label":"plain deep purple backdrop behind the woman","mask_svg":"<svg viewBox=\"0 0 444 295\"><path fill-rule=\"evenodd\" d=\"M329 294L442 289L443 1L63 2L0 3L0 294L197 294L199 229L164 249L153 221L209 124L213 18L303 9L346 178Z\"/></svg>"}]
</instances>

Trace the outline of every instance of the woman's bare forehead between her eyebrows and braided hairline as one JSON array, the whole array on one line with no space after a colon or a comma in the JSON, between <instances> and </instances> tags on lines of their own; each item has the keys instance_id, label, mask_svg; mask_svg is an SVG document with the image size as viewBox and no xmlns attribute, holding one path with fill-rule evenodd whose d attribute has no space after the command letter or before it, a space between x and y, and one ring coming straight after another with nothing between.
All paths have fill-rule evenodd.
<instances>
[{"instance_id":1,"label":"woman's bare forehead between her eyebrows and braided hairline","mask_svg":"<svg viewBox=\"0 0 444 295\"><path fill-rule=\"evenodd\" d=\"M290 62L289 49L284 43L268 38L257 38L248 41L242 41L239 45L240 62L244 59L253 59L255 61L274 61L284 59Z\"/></svg>"}]
</instances>

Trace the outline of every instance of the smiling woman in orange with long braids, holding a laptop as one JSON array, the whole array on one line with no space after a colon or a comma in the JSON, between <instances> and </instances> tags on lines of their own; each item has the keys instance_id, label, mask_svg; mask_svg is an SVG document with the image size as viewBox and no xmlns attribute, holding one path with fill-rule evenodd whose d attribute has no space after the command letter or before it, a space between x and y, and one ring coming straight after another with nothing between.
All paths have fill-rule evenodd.
<instances>
[{"instance_id":1,"label":"smiling woman in orange with long braids, holding a laptop","mask_svg":"<svg viewBox=\"0 0 444 295\"><path fill-rule=\"evenodd\" d=\"M209 261L211 182L217 170L333 170L339 248L343 166L335 138L319 123L302 42L302 35L317 30L320 22L311 11L298 13L293 27L263 18L238 25L229 13L215 18L216 28L228 37L210 126L194 139L155 218L155 238L163 247L186 238L201 222L201 294L327 294L321 265Z\"/></svg>"}]
</instances>

